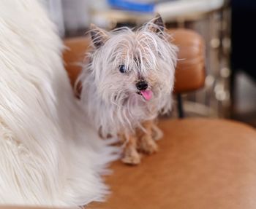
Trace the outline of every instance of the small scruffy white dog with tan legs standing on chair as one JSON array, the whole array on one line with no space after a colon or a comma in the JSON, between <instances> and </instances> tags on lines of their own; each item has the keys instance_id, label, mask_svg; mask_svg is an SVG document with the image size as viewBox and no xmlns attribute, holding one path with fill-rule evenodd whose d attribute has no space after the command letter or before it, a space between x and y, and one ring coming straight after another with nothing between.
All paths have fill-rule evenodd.
<instances>
[{"instance_id":1,"label":"small scruffy white dog with tan legs standing on chair","mask_svg":"<svg viewBox=\"0 0 256 209\"><path fill-rule=\"evenodd\" d=\"M91 25L91 39L78 79L84 109L101 135L125 142L123 162L138 164L138 151L157 151L154 120L170 110L177 48L159 15L137 31Z\"/></svg>"}]
</instances>

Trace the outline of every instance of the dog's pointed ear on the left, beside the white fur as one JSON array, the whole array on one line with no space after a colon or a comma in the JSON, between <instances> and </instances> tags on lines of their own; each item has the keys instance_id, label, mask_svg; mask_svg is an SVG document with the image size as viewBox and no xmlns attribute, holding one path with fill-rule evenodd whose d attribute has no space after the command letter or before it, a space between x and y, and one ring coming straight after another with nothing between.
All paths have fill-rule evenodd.
<instances>
[{"instance_id":1,"label":"dog's pointed ear on the left, beside the white fur","mask_svg":"<svg viewBox=\"0 0 256 209\"><path fill-rule=\"evenodd\" d=\"M91 40L96 48L102 47L102 45L109 39L108 32L94 24L91 24L90 33Z\"/></svg>"}]
</instances>

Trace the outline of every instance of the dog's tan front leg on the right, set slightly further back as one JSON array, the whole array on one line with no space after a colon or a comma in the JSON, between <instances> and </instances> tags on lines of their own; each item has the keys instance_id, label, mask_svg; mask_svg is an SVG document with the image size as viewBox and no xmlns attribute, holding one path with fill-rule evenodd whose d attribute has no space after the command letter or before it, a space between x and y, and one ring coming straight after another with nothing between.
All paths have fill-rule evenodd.
<instances>
[{"instance_id":1,"label":"dog's tan front leg on the right, set slightly further back","mask_svg":"<svg viewBox=\"0 0 256 209\"><path fill-rule=\"evenodd\" d=\"M153 138L154 120L143 122L145 130L138 130L138 149L146 154L153 154L158 150L157 143Z\"/></svg>"}]
</instances>

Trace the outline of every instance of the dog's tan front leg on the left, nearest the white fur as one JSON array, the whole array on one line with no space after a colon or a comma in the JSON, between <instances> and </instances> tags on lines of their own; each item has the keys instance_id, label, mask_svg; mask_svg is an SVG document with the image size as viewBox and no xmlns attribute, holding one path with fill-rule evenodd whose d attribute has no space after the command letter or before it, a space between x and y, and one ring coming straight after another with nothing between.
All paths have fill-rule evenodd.
<instances>
[{"instance_id":1,"label":"dog's tan front leg on the left, nearest the white fur","mask_svg":"<svg viewBox=\"0 0 256 209\"><path fill-rule=\"evenodd\" d=\"M124 157L122 162L129 165L140 164L140 154L137 151L137 138L135 135L119 135L119 138L124 142Z\"/></svg>"}]
</instances>

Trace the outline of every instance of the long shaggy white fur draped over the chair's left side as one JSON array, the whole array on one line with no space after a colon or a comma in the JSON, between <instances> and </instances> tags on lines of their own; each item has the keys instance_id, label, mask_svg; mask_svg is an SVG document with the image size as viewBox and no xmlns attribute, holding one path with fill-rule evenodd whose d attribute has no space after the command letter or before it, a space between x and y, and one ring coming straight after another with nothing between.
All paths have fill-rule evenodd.
<instances>
[{"instance_id":1,"label":"long shaggy white fur draped over the chair's left side","mask_svg":"<svg viewBox=\"0 0 256 209\"><path fill-rule=\"evenodd\" d=\"M0 8L0 203L102 200L113 148L80 116L56 28L35 0L1 0Z\"/></svg>"}]
</instances>

